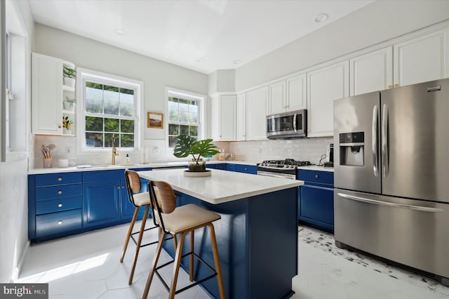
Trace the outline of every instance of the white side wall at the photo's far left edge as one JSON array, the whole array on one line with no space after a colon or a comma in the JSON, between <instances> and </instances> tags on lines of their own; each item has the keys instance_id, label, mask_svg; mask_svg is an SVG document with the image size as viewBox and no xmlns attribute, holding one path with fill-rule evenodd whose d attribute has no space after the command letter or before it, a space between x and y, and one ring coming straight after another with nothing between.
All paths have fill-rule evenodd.
<instances>
[{"instance_id":1,"label":"white side wall at the photo's far left edge","mask_svg":"<svg viewBox=\"0 0 449 299\"><path fill-rule=\"evenodd\" d=\"M28 1L6 1L6 6L13 6L15 15L18 16L18 22L25 29L25 69L29 71L29 57L34 35L34 21L32 19L31 8ZM8 11L6 22L11 18ZM2 15L1 18L4 18ZM24 71L25 71L24 69ZM27 72L29 74L29 72ZM20 76L19 76L20 77ZM27 132L29 131L29 75L22 76L26 80L25 109L22 111L22 117L11 119L13 131L16 127L22 128L22 136L25 138L25 150L27 151ZM15 161L0 163L0 282L10 282L18 275L18 265L24 255L28 241L28 204L27 204L27 159L20 158Z\"/></svg>"}]
</instances>

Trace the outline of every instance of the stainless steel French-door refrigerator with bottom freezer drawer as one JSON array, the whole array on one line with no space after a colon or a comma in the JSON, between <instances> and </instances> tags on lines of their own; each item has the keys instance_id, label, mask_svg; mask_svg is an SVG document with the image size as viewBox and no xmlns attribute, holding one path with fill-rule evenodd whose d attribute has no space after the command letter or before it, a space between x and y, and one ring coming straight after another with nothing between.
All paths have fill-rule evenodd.
<instances>
[{"instance_id":1,"label":"stainless steel French-door refrigerator with bottom freezer drawer","mask_svg":"<svg viewBox=\"0 0 449 299\"><path fill-rule=\"evenodd\" d=\"M334 101L335 243L449 285L449 79Z\"/></svg>"}]
</instances>

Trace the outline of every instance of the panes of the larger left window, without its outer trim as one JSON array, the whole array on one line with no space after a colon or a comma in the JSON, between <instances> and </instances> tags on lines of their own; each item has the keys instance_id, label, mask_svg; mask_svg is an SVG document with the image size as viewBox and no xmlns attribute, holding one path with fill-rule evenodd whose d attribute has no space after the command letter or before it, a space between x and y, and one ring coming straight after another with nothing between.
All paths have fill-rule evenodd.
<instances>
[{"instance_id":1,"label":"panes of the larger left window, without its outer trim","mask_svg":"<svg viewBox=\"0 0 449 299\"><path fill-rule=\"evenodd\" d=\"M135 90L84 81L86 147L135 147Z\"/></svg>"}]
</instances>

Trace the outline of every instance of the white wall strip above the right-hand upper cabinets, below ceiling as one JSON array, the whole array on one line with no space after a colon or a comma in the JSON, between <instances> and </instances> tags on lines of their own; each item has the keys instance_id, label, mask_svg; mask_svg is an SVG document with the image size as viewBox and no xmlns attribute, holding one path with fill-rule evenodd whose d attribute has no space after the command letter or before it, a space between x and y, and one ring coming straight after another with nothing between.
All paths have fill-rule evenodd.
<instances>
[{"instance_id":1,"label":"white wall strip above the right-hand upper cabinets, below ceiling","mask_svg":"<svg viewBox=\"0 0 449 299\"><path fill-rule=\"evenodd\" d=\"M236 91L449 18L449 1L375 1L236 69Z\"/></svg>"}]
</instances>

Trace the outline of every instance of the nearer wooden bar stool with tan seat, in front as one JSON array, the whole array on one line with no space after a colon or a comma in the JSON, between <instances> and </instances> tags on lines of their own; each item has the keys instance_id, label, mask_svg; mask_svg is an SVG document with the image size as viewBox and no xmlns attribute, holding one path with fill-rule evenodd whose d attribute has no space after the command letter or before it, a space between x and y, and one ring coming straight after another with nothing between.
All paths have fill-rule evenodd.
<instances>
[{"instance_id":1,"label":"nearer wooden bar stool with tan seat, in front","mask_svg":"<svg viewBox=\"0 0 449 299\"><path fill-rule=\"evenodd\" d=\"M147 286L145 286L143 298L148 297L149 287L152 284L152 279L155 273L169 291L168 298L170 299L175 298L175 294L185 291L187 288L196 286L196 284L200 284L201 282L206 281L207 279L211 279L215 276L217 277L220 298L225 298L225 289L223 287L220 259L218 258L217 240L215 238L215 230L212 223L215 220L219 220L221 216L217 213L213 213L212 211L200 208L199 206L196 206L194 204L187 204L185 206L176 207L176 195L173 191L173 188L170 184L168 184L168 182L148 181L148 187L150 199L152 202L153 215L156 219L156 223L161 226L161 230L159 231L159 243L157 245L156 255L154 255L152 270L148 276ZM202 227L209 228L215 270L213 269L213 267L210 267L208 263L202 260L198 255L196 255L196 253L194 253L194 230L198 230ZM166 234L171 234L173 235L173 237L175 237L176 234L180 234L179 241L176 241L175 239L175 259L158 267L157 263L161 255L161 250L163 242L166 238ZM184 245L186 234L190 234L190 252L182 255L182 246ZM213 270L213 274L204 279L196 281L193 284L180 289L179 291L176 291L177 277L180 270L181 258L184 258L188 255L190 281L194 280L194 257L198 258L199 261L209 267L210 270ZM174 263L173 278L171 281L171 286L170 288L168 288L168 285L165 281L163 281L161 275L158 273L158 270L170 263Z\"/></svg>"}]
</instances>

